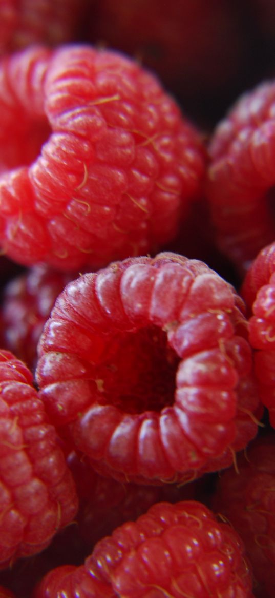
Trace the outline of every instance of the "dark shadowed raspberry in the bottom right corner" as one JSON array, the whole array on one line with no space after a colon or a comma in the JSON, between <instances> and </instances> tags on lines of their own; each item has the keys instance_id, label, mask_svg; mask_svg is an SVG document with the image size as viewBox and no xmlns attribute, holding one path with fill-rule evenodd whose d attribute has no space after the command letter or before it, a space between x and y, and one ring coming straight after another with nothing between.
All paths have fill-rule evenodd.
<instances>
[{"instance_id":1,"label":"dark shadowed raspberry in the bottom right corner","mask_svg":"<svg viewBox=\"0 0 275 598\"><path fill-rule=\"evenodd\" d=\"M249 446L233 468L221 475L215 510L228 518L242 538L253 566L258 598L274 598L275 587L275 436Z\"/></svg>"}]
</instances>

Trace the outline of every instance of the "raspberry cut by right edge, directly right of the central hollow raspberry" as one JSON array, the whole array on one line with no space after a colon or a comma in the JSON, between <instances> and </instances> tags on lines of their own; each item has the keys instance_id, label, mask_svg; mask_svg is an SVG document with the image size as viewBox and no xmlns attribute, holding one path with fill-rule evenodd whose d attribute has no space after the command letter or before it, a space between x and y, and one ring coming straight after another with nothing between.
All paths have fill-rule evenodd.
<instances>
[{"instance_id":1,"label":"raspberry cut by right edge, directly right of the central hollow raspberry","mask_svg":"<svg viewBox=\"0 0 275 598\"><path fill-rule=\"evenodd\" d=\"M255 349L259 395L275 428L275 243L262 249L252 263L243 282L242 295L252 314L249 339Z\"/></svg>"}]
</instances>

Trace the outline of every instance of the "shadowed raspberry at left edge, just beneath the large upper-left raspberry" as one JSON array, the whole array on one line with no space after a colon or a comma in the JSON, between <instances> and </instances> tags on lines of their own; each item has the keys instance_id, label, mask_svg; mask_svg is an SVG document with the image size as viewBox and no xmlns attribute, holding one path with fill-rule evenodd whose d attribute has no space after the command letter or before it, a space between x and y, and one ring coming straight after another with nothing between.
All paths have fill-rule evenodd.
<instances>
[{"instance_id":1,"label":"shadowed raspberry at left edge, just beneath the large upper-left raspberry","mask_svg":"<svg viewBox=\"0 0 275 598\"><path fill-rule=\"evenodd\" d=\"M11 280L2 296L2 346L35 370L37 344L51 309L76 272L62 273L41 264Z\"/></svg>"}]
</instances>

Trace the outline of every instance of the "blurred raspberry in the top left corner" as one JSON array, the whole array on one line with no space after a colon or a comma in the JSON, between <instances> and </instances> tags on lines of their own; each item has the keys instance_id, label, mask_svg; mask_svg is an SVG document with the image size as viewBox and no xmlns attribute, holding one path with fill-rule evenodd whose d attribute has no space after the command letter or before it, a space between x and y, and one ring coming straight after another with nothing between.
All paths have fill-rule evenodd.
<instances>
[{"instance_id":1,"label":"blurred raspberry in the top left corner","mask_svg":"<svg viewBox=\"0 0 275 598\"><path fill-rule=\"evenodd\" d=\"M83 0L1 0L0 54L29 44L70 41L82 8Z\"/></svg>"}]
</instances>

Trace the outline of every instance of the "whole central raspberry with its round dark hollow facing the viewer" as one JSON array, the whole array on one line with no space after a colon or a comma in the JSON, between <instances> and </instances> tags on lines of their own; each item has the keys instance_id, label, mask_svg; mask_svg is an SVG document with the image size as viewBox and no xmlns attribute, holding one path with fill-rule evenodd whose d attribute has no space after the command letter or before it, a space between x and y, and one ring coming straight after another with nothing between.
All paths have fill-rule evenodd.
<instances>
[{"instance_id":1,"label":"whole central raspberry with its round dark hollow facing the viewer","mask_svg":"<svg viewBox=\"0 0 275 598\"><path fill-rule=\"evenodd\" d=\"M172 253L69 283L36 370L60 433L121 481L183 481L229 465L257 433L243 309L206 264Z\"/></svg>"}]
</instances>

